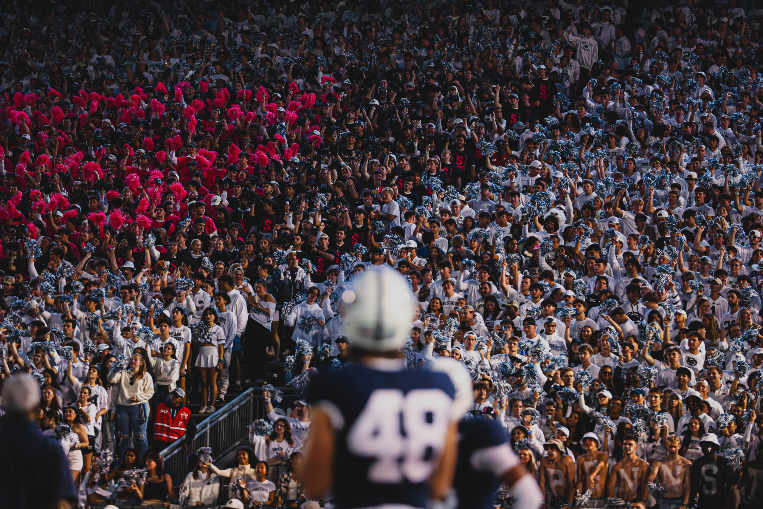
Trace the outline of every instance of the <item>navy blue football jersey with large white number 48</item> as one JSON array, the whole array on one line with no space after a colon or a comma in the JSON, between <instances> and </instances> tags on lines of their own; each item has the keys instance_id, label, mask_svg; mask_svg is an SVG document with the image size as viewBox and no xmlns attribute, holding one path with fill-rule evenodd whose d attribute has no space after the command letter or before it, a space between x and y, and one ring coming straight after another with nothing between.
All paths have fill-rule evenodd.
<instances>
[{"instance_id":1,"label":"navy blue football jersey with large white number 48","mask_svg":"<svg viewBox=\"0 0 763 509\"><path fill-rule=\"evenodd\" d=\"M458 418L455 395L442 372L361 365L319 372L305 399L330 415L336 431L336 506L426 507L435 459Z\"/></svg>"}]
</instances>

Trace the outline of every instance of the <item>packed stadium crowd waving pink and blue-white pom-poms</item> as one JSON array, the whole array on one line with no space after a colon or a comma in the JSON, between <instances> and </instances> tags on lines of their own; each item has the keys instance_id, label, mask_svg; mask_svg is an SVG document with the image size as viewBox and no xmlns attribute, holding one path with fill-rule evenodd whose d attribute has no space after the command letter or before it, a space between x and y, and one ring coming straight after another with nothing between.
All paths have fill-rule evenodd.
<instances>
[{"instance_id":1,"label":"packed stadium crowd waving pink and blue-white pom-poms","mask_svg":"<svg viewBox=\"0 0 763 509\"><path fill-rule=\"evenodd\" d=\"M408 366L468 367L465 418L503 425L546 507L759 507L761 15L2 2L0 379L39 382L61 496L330 504L299 479L311 405L276 387L352 369L343 295L396 270ZM237 466L167 475L250 386Z\"/></svg>"}]
</instances>

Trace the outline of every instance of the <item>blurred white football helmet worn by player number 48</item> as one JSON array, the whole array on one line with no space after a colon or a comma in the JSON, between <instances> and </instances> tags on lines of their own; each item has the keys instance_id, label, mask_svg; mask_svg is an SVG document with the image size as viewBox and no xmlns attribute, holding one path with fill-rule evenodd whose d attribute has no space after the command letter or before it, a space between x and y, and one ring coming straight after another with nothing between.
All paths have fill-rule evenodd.
<instances>
[{"instance_id":1,"label":"blurred white football helmet worn by player number 48","mask_svg":"<svg viewBox=\"0 0 763 509\"><path fill-rule=\"evenodd\" d=\"M349 343L371 352L399 350L414 319L414 298L399 272L372 270L342 294Z\"/></svg>"}]
</instances>

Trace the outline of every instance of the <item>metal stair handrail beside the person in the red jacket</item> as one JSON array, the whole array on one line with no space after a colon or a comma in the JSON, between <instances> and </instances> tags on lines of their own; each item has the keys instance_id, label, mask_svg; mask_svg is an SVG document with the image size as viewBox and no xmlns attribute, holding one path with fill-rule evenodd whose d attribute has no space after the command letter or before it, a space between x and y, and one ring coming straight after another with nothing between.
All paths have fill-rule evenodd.
<instances>
[{"instance_id":1,"label":"metal stair handrail beside the person in the red jacket","mask_svg":"<svg viewBox=\"0 0 763 509\"><path fill-rule=\"evenodd\" d=\"M215 411L196 427L196 435L188 448L183 447L183 440L176 440L159 456L164 460L164 471L172 477L176 485L182 484L188 472L186 456L194 453L199 447L211 447L214 461L218 461L238 446L249 435L246 427L253 420L265 417L265 402L262 399L262 389L249 388L237 398ZM214 432L214 433L213 433Z\"/></svg>"}]
</instances>

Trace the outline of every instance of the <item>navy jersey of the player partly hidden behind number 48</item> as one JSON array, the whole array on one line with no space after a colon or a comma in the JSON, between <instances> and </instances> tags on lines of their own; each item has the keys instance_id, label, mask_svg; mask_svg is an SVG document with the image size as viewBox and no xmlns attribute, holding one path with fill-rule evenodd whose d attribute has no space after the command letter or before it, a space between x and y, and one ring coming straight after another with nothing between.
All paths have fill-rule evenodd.
<instances>
[{"instance_id":1,"label":"navy jersey of the player partly hidden behind number 48","mask_svg":"<svg viewBox=\"0 0 763 509\"><path fill-rule=\"evenodd\" d=\"M459 509L491 509L504 472L520 464L501 424L485 417L459 423L459 460L453 488Z\"/></svg>"}]
</instances>

